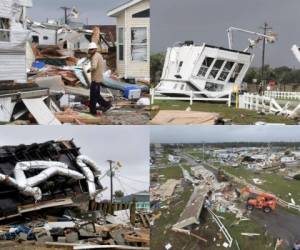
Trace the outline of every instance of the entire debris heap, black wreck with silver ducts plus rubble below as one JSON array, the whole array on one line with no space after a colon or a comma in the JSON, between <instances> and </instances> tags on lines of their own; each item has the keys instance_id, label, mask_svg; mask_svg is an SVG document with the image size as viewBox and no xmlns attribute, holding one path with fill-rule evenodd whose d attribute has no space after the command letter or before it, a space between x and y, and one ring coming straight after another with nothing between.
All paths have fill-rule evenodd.
<instances>
[{"instance_id":1,"label":"entire debris heap, black wreck with silver ducts plus rubble below","mask_svg":"<svg viewBox=\"0 0 300 250\"><path fill-rule=\"evenodd\" d=\"M102 200L107 173L73 141L1 147L0 244L149 249L152 214Z\"/></svg>"}]
</instances>

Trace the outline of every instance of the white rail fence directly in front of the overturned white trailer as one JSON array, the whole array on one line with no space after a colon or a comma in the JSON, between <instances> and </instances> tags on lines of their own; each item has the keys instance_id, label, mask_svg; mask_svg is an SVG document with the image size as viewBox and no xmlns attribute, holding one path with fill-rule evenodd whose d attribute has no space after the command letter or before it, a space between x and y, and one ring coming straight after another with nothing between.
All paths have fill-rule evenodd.
<instances>
[{"instance_id":1,"label":"white rail fence directly in front of the overturned white trailer","mask_svg":"<svg viewBox=\"0 0 300 250\"><path fill-rule=\"evenodd\" d=\"M228 107L231 106L231 93L228 93L228 97L222 98L199 97L199 95L205 94L205 92L201 91L158 91L155 89L150 89L151 104L154 104L155 100L181 100L190 101L190 105L193 105L194 101L213 101L225 102L228 104Z\"/></svg>"}]
</instances>

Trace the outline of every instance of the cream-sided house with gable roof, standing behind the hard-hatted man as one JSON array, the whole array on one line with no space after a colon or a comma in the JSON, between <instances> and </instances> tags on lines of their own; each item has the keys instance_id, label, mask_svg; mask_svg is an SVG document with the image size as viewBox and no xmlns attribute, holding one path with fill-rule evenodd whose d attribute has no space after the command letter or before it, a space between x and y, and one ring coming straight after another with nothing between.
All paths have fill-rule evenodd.
<instances>
[{"instance_id":1,"label":"cream-sided house with gable roof, standing behind the hard-hatted man","mask_svg":"<svg viewBox=\"0 0 300 250\"><path fill-rule=\"evenodd\" d=\"M117 18L117 71L125 79L150 79L150 1L132 0L108 12Z\"/></svg>"}]
</instances>

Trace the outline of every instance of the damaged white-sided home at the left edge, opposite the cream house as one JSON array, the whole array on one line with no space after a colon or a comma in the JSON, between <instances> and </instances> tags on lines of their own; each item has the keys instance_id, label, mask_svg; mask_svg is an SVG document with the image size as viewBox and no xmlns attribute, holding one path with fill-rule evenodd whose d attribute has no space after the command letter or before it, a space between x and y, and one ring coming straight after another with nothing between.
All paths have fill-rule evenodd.
<instances>
[{"instance_id":1,"label":"damaged white-sided home at the left edge, opposite the cream house","mask_svg":"<svg viewBox=\"0 0 300 250\"><path fill-rule=\"evenodd\" d=\"M26 82L26 8L31 0L0 1L0 81Z\"/></svg>"}]
</instances>

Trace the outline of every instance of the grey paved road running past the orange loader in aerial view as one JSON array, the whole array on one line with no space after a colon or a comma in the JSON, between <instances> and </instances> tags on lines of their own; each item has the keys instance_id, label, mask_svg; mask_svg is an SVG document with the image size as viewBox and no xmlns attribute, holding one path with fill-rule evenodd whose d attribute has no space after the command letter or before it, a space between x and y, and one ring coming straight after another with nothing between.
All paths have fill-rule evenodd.
<instances>
[{"instance_id":1,"label":"grey paved road running past the orange loader in aerial view","mask_svg":"<svg viewBox=\"0 0 300 250\"><path fill-rule=\"evenodd\" d=\"M197 163L190 156L184 154L182 157L192 166L203 165L208 170L216 174L216 170L210 168L205 163ZM263 211L255 209L251 213L251 219L256 223L265 226L267 231L276 238L286 240L290 245L295 240L300 241L300 216L287 212L282 207L277 206L271 214L265 214Z\"/></svg>"}]
</instances>

